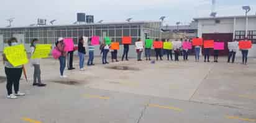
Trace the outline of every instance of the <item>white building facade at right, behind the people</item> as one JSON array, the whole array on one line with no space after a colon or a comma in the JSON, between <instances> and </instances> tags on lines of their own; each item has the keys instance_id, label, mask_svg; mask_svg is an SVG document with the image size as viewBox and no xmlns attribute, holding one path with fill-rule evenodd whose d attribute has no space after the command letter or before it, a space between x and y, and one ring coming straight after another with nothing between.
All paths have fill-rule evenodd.
<instances>
[{"instance_id":1,"label":"white building facade at right, behind the people","mask_svg":"<svg viewBox=\"0 0 256 123\"><path fill-rule=\"evenodd\" d=\"M254 45L249 50L249 57L256 57L256 15L205 17L194 19L198 22L198 36L205 40L219 40L225 42L225 50L222 55L227 55L227 42L232 40L244 40L247 37ZM242 54L237 53L237 56Z\"/></svg>"}]
</instances>

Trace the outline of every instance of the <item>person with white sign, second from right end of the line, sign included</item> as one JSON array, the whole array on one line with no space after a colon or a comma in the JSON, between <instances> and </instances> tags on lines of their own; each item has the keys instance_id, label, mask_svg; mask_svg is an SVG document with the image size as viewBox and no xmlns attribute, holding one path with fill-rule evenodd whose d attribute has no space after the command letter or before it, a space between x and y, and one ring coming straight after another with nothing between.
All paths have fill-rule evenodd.
<instances>
[{"instance_id":1,"label":"person with white sign, second from right end of the line, sign included","mask_svg":"<svg viewBox=\"0 0 256 123\"><path fill-rule=\"evenodd\" d=\"M238 49L238 41L234 40L233 42L229 42L228 48L229 48L229 56L227 57L227 62L230 62L232 57L232 63L234 63L235 53L237 52L237 49Z\"/></svg>"}]
</instances>

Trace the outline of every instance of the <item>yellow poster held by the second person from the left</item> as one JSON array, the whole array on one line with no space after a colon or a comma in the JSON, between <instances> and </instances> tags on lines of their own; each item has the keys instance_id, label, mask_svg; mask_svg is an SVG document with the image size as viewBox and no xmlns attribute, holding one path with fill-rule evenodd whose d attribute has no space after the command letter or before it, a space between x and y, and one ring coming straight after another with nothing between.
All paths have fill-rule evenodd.
<instances>
[{"instance_id":1,"label":"yellow poster held by the second person from the left","mask_svg":"<svg viewBox=\"0 0 256 123\"><path fill-rule=\"evenodd\" d=\"M40 59L49 57L52 45L37 45L31 59Z\"/></svg>"}]
</instances>

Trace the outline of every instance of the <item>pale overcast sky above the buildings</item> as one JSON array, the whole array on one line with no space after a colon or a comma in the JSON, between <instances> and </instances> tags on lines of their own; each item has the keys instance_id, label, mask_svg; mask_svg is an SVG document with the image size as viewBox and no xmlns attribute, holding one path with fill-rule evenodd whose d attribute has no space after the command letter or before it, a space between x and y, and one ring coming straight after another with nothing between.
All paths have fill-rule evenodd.
<instances>
[{"instance_id":1,"label":"pale overcast sky above the buildings","mask_svg":"<svg viewBox=\"0 0 256 123\"><path fill-rule=\"evenodd\" d=\"M255 15L256 0L216 0L217 16L244 15L243 5L250 5L249 14ZM71 24L76 21L76 12L94 15L94 22L120 22L129 17L134 21L159 20L165 15L165 24L175 25L209 17L211 0L1 0L0 27L6 27L6 19L11 17L15 17L12 27L36 23L37 18Z\"/></svg>"}]
</instances>

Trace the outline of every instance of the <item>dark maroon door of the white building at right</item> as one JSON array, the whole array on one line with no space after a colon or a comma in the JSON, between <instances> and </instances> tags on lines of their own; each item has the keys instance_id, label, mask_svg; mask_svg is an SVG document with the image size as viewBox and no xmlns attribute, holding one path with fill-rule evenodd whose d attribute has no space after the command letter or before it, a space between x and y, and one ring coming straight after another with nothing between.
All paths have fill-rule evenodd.
<instances>
[{"instance_id":1,"label":"dark maroon door of the white building at right","mask_svg":"<svg viewBox=\"0 0 256 123\"><path fill-rule=\"evenodd\" d=\"M224 42L224 50L220 50L219 55L227 56L229 54L227 43L233 40L233 33L203 33L203 39ZM211 54L213 55L213 50Z\"/></svg>"}]
</instances>

